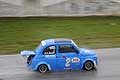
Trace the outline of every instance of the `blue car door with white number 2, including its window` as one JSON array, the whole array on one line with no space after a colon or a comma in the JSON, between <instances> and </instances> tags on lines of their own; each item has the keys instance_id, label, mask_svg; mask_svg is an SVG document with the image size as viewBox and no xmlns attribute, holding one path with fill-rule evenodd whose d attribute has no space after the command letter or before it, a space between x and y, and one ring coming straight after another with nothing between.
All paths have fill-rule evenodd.
<instances>
[{"instance_id":1,"label":"blue car door with white number 2, including its window","mask_svg":"<svg viewBox=\"0 0 120 80\"><path fill-rule=\"evenodd\" d=\"M80 69L79 52L72 44L58 45L57 67L60 70Z\"/></svg>"}]
</instances>

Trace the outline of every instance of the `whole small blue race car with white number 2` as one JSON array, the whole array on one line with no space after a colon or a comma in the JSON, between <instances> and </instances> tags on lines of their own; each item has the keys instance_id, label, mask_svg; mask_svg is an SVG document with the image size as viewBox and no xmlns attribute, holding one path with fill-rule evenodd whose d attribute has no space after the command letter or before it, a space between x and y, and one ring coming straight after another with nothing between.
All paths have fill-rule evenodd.
<instances>
[{"instance_id":1,"label":"whole small blue race car with white number 2","mask_svg":"<svg viewBox=\"0 0 120 80\"><path fill-rule=\"evenodd\" d=\"M41 41L34 51L21 51L27 57L27 67L33 71L87 70L96 69L97 55L79 48L71 39L48 39Z\"/></svg>"}]
</instances>

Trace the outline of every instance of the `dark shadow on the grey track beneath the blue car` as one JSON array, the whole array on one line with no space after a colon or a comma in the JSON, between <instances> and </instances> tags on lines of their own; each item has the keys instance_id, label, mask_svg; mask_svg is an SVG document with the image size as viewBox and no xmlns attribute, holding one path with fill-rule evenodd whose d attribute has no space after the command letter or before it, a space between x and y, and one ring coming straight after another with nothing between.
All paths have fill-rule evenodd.
<instances>
[{"instance_id":1,"label":"dark shadow on the grey track beneath the blue car","mask_svg":"<svg viewBox=\"0 0 120 80\"><path fill-rule=\"evenodd\" d=\"M82 80L85 79L92 79L96 77L96 70L92 71L61 71L61 72L48 72L48 73L39 73L34 72L29 76L29 80L77 80L81 78Z\"/></svg>"}]
</instances>

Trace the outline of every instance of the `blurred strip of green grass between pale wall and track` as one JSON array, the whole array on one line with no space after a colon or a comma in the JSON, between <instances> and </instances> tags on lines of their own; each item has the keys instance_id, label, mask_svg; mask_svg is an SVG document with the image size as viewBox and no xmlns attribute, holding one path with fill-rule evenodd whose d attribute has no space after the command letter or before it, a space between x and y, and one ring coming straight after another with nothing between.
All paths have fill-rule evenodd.
<instances>
[{"instance_id":1,"label":"blurred strip of green grass between pale wall and track","mask_svg":"<svg viewBox=\"0 0 120 80\"><path fill-rule=\"evenodd\" d=\"M0 18L0 54L33 50L49 38L71 38L84 48L120 47L120 17Z\"/></svg>"}]
</instances>

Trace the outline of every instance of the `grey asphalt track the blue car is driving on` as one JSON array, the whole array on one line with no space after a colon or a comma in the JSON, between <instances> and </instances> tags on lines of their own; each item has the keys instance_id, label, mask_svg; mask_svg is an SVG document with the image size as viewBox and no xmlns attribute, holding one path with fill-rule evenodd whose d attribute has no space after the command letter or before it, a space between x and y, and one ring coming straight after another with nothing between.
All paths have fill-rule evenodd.
<instances>
[{"instance_id":1,"label":"grey asphalt track the blue car is driving on","mask_svg":"<svg viewBox=\"0 0 120 80\"><path fill-rule=\"evenodd\" d=\"M97 71L65 71L40 74L29 71L20 55L0 56L0 80L120 80L120 48L95 50Z\"/></svg>"}]
</instances>

